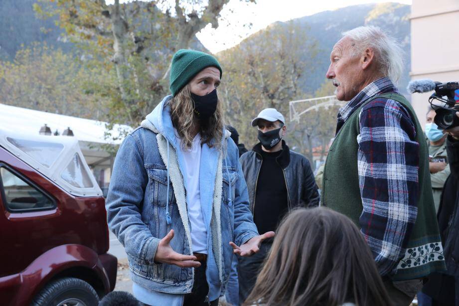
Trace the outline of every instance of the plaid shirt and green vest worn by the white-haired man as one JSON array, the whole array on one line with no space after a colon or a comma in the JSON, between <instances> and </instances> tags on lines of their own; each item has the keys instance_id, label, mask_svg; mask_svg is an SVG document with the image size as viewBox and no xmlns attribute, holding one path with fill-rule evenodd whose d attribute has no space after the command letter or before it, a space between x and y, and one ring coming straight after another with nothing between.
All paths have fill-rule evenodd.
<instances>
[{"instance_id":1,"label":"plaid shirt and green vest worn by the white-haired man","mask_svg":"<svg viewBox=\"0 0 459 306\"><path fill-rule=\"evenodd\" d=\"M322 204L360 228L379 273L392 280L445 269L428 158L416 114L389 78L340 109Z\"/></svg>"}]
</instances>

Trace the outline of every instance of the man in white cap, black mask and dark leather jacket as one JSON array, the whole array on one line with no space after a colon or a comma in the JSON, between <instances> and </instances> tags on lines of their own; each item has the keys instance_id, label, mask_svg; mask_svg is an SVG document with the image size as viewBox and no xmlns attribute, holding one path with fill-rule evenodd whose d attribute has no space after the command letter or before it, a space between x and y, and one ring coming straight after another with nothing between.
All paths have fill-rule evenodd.
<instances>
[{"instance_id":1,"label":"man in white cap, black mask and dark leather jacket","mask_svg":"<svg viewBox=\"0 0 459 306\"><path fill-rule=\"evenodd\" d=\"M252 126L258 127L260 143L244 153L240 161L255 225L259 231L273 231L293 208L317 206L319 194L309 161L290 151L282 140L287 132L284 116L267 108L252 121ZM251 260L238 258L239 302L250 294L271 245L272 239L265 240Z\"/></svg>"}]
</instances>

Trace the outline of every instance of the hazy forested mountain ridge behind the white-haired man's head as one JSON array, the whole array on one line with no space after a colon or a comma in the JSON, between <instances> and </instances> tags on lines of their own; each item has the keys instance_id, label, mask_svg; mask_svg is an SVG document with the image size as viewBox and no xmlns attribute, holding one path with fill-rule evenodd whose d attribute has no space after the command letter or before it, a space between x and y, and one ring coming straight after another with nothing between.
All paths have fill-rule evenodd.
<instances>
[{"instance_id":1,"label":"hazy forested mountain ridge behind the white-haired man's head","mask_svg":"<svg viewBox=\"0 0 459 306\"><path fill-rule=\"evenodd\" d=\"M289 22L298 22L317 42L317 55L315 58L305 54L302 60L311 63L313 77L305 79L303 90L306 94L313 94L325 81L325 72L329 65L329 53L333 45L340 39L341 33L357 26L374 25L389 33L401 43L405 50L404 71L398 82L398 88L406 93L406 86L410 80L409 72L411 67L411 41L409 14L411 6L398 2L370 3L351 5L335 10L326 10L312 15L295 18L290 21L276 21L265 29L259 30L241 41L238 45L248 44L254 37L263 35L268 28L277 27L279 30L287 27ZM339 18L338 18L339 17ZM217 56L230 52L238 45L220 51ZM306 49L306 48L305 48Z\"/></svg>"}]
</instances>

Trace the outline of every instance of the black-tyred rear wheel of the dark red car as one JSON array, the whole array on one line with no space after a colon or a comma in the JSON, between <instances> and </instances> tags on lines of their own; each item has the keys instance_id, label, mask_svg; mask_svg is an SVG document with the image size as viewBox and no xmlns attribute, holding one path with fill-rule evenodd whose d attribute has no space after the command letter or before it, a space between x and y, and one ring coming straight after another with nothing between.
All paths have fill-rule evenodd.
<instances>
[{"instance_id":1,"label":"black-tyred rear wheel of the dark red car","mask_svg":"<svg viewBox=\"0 0 459 306\"><path fill-rule=\"evenodd\" d=\"M32 306L97 306L99 297L94 288L76 278L63 278L47 284Z\"/></svg>"}]
</instances>

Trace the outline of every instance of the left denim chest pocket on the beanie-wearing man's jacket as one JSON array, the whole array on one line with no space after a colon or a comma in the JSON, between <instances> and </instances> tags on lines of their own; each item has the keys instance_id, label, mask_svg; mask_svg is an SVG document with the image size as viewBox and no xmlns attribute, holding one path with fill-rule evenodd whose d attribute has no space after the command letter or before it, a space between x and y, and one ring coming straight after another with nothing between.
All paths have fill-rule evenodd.
<instances>
[{"instance_id":1,"label":"left denim chest pocket on the beanie-wearing man's jacket","mask_svg":"<svg viewBox=\"0 0 459 306\"><path fill-rule=\"evenodd\" d=\"M167 169L160 165L148 165L146 168L149 176L150 202L159 207L165 207L166 203L170 205L174 201L174 192L169 179L169 198L166 200Z\"/></svg>"}]
</instances>

